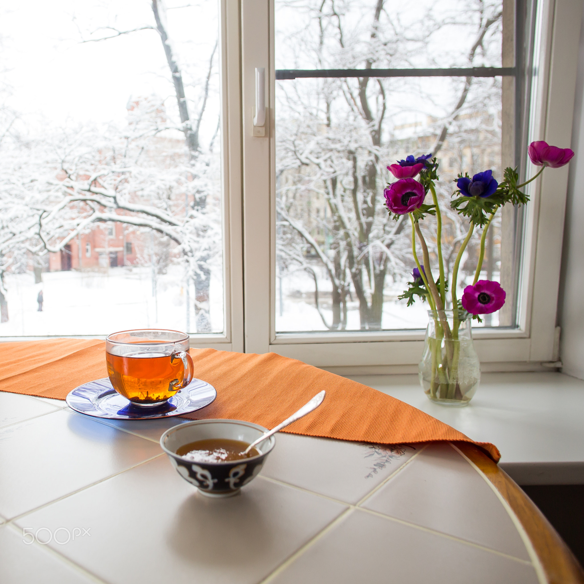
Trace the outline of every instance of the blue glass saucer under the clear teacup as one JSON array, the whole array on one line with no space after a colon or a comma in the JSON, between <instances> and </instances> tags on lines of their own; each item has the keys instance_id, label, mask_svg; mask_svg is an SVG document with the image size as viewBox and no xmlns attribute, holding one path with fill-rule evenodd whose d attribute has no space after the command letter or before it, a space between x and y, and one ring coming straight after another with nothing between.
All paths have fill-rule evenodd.
<instances>
[{"instance_id":1,"label":"blue glass saucer under the clear teacup","mask_svg":"<svg viewBox=\"0 0 584 584\"><path fill-rule=\"evenodd\" d=\"M151 420L182 416L209 405L217 397L213 385L193 379L165 404L142 408L134 405L112 387L109 378L96 379L69 392L67 405L76 412L113 420Z\"/></svg>"}]
</instances>

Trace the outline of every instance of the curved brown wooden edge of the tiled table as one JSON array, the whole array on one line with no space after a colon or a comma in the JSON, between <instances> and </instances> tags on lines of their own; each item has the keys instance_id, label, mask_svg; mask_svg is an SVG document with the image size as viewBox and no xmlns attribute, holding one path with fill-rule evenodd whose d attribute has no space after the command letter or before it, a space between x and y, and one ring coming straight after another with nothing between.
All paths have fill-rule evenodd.
<instances>
[{"instance_id":1,"label":"curved brown wooden edge of the tiled table","mask_svg":"<svg viewBox=\"0 0 584 584\"><path fill-rule=\"evenodd\" d=\"M454 445L474 463L515 513L550 584L584 584L584 571L551 523L519 485L474 444Z\"/></svg>"}]
</instances>

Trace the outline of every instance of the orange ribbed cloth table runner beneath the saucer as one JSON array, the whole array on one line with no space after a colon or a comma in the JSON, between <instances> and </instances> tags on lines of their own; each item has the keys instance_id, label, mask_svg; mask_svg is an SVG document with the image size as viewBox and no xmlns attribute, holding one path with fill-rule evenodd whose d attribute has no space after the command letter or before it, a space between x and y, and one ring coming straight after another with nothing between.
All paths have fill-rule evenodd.
<instances>
[{"instance_id":1,"label":"orange ribbed cloth table runner beneath the saucer","mask_svg":"<svg viewBox=\"0 0 584 584\"><path fill-rule=\"evenodd\" d=\"M474 442L399 399L301 361L214 349L190 354L194 376L213 385L217 399L185 418L239 419L271 428L326 390L316 411L283 431L378 444L472 442L499 461L493 444ZM0 343L0 391L65 399L78 385L102 377L107 377L103 340Z\"/></svg>"}]
</instances>

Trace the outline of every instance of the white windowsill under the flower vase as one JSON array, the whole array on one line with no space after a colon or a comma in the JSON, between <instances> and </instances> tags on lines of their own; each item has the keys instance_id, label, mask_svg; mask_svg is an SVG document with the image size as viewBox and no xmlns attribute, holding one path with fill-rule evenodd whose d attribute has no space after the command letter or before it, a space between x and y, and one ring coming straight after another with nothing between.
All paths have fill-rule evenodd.
<instances>
[{"instance_id":1,"label":"white windowsill under the flower vase","mask_svg":"<svg viewBox=\"0 0 584 584\"><path fill-rule=\"evenodd\" d=\"M470 405L430 402L415 375L347 376L413 405L479 442L520 485L584 484L584 381L562 373L484 373Z\"/></svg>"}]
</instances>

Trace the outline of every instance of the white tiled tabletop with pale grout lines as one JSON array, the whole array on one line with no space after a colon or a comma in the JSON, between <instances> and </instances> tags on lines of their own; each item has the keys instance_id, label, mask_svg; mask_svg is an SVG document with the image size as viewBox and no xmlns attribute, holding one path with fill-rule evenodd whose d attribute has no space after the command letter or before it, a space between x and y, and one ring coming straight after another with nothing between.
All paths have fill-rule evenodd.
<instances>
[{"instance_id":1,"label":"white tiled tabletop with pale grout lines","mask_svg":"<svg viewBox=\"0 0 584 584\"><path fill-rule=\"evenodd\" d=\"M2 584L543 581L502 499L449 444L280 433L259 477L213 500L159 447L186 420L64 405L0 392ZM27 545L25 528L63 543Z\"/></svg>"}]
</instances>

